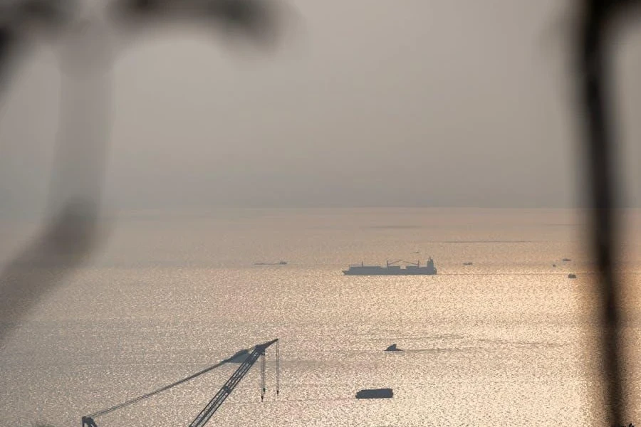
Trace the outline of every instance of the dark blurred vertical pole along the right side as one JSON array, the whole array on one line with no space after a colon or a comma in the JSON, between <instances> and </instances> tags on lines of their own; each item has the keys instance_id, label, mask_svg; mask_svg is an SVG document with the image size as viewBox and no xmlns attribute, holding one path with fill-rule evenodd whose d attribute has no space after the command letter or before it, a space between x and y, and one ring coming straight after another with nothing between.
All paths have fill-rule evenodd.
<instances>
[{"instance_id":1,"label":"dark blurred vertical pole along the right side","mask_svg":"<svg viewBox=\"0 0 641 427\"><path fill-rule=\"evenodd\" d=\"M613 266L619 243L615 215L613 133L610 129L610 58L606 23L615 6L608 0L585 0L580 27L578 75L585 115L587 182L592 208L591 246L597 264L600 296L600 349L603 362L605 416L610 425L622 426L625 395L622 386L620 287Z\"/></svg>"}]
</instances>

